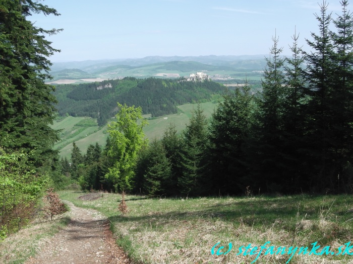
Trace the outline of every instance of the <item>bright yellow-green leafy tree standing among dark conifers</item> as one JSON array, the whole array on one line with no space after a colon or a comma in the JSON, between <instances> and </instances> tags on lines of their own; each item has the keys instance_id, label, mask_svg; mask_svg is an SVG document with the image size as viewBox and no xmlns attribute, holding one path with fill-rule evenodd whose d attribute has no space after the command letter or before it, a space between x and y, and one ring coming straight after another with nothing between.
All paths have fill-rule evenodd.
<instances>
[{"instance_id":1,"label":"bright yellow-green leafy tree standing among dark conifers","mask_svg":"<svg viewBox=\"0 0 353 264\"><path fill-rule=\"evenodd\" d=\"M131 180L137 161L137 153L147 144L142 128L148 123L142 119L141 107L128 107L117 103L120 108L116 114L116 122L108 125L110 145L107 155L112 162L106 178L110 179L115 191L131 189ZM139 121L139 123L138 123Z\"/></svg>"}]
</instances>

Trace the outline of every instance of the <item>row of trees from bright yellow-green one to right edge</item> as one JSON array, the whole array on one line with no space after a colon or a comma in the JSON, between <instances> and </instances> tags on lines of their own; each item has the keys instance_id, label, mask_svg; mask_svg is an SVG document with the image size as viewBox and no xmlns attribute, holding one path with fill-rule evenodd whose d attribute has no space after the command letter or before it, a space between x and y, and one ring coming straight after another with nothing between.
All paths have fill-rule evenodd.
<instances>
[{"instance_id":1,"label":"row of trees from bright yellow-green one to right edge","mask_svg":"<svg viewBox=\"0 0 353 264\"><path fill-rule=\"evenodd\" d=\"M341 5L336 19L325 2L320 6L310 52L294 34L292 56L285 58L275 35L262 91L254 94L249 85L226 91L209 121L198 106L182 133L171 124L149 144L126 141L136 133L114 126L99 182L148 195L352 192L353 20L348 2Z\"/></svg>"}]
</instances>

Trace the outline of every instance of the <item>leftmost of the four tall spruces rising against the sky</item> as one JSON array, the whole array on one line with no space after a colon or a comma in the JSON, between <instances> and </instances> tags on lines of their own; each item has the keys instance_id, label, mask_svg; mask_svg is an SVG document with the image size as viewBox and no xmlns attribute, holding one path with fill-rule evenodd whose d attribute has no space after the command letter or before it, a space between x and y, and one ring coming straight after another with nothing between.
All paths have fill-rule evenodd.
<instances>
[{"instance_id":1,"label":"leftmost of the four tall spruces rising against the sky","mask_svg":"<svg viewBox=\"0 0 353 264\"><path fill-rule=\"evenodd\" d=\"M266 191L281 191L285 164L282 152L284 58L278 47L278 37L273 38L270 58L266 58L260 96L257 130L257 156L254 157L258 171L253 185Z\"/></svg>"}]
</instances>

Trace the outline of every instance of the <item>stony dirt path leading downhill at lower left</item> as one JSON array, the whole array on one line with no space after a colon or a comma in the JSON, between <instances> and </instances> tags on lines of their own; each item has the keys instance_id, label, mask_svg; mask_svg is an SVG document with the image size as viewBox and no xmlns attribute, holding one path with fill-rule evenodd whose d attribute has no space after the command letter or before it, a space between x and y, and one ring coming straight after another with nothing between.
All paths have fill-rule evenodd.
<instances>
[{"instance_id":1,"label":"stony dirt path leading downhill at lower left","mask_svg":"<svg viewBox=\"0 0 353 264\"><path fill-rule=\"evenodd\" d=\"M115 244L106 218L98 211L65 203L71 208L71 222L47 240L39 254L26 264L130 263Z\"/></svg>"}]
</instances>

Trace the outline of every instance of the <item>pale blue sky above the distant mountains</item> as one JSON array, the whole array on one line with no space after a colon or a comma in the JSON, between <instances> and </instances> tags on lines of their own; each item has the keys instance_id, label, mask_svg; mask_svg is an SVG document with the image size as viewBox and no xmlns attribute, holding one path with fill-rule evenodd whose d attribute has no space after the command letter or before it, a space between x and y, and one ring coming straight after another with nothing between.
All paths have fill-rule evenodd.
<instances>
[{"instance_id":1,"label":"pale blue sky above the distant mountains","mask_svg":"<svg viewBox=\"0 0 353 264\"><path fill-rule=\"evenodd\" d=\"M52 62L146 56L269 54L276 34L283 54L318 32L322 0L45 0L61 16L28 17L37 27L64 29L48 36L60 49ZM330 0L332 17L341 13ZM348 6L350 7L350 6ZM352 5L353 9L353 5Z\"/></svg>"}]
</instances>

